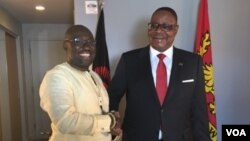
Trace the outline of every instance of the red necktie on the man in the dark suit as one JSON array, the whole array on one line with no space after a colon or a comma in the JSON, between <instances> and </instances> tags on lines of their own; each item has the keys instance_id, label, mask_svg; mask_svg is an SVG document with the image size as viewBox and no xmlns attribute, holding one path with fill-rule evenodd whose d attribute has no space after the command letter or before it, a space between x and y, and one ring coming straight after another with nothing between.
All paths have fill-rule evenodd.
<instances>
[{"instance_id":1,"label":"red necktie on the man in the dark suit","mask_svg":"<svg viewBox=\"0 0 250 141\"><path fill-rule=\"evenodd\" d=\"M158 54L159 63L156 70L156 91L161 105L167 93L167 70L163 62L166 57L164 54Z\"/></svg>"}]
</instances>

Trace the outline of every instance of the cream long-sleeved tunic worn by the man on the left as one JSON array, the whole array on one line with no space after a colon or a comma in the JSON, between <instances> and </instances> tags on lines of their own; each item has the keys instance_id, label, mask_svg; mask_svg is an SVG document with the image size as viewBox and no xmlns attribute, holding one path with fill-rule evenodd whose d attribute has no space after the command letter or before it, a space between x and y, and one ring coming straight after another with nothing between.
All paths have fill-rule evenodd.
<instances>
[{"instance_id":1,"label":"cream long-sleeved tunic worn by the man on the left","mask_svg":"<svg viewBox=\"0 0 250 141\"><path fill-rule=\"evenodd\" d=\"M111 119L102 115L102 109L109 110L108 94L92 70L79 71L68 63L55 66L45 74L40 99L51 119L49 141L111 141Z\"/></svg>"}]
</instances>

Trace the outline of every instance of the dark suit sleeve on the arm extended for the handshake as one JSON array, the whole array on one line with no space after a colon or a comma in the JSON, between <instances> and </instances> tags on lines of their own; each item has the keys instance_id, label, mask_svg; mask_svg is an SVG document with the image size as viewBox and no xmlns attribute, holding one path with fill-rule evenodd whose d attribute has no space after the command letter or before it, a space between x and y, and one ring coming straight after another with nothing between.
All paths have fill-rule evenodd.
<instances>
[{"instance_id":1,"label":"dark suit sleeve on the arm extended for the handshake","mask_svg":"<svg viewBox=\"0 0 250 141\"><path fill-rule=\"evenodd\" d=\"M110 100L110 110L118 111L119 103L121 98L126 93L126 63L125 57L122 55L115 74L110 82L108 93L109 93L109 100Z\"/></svg>"}]
</instances>

